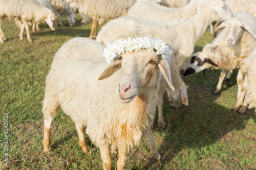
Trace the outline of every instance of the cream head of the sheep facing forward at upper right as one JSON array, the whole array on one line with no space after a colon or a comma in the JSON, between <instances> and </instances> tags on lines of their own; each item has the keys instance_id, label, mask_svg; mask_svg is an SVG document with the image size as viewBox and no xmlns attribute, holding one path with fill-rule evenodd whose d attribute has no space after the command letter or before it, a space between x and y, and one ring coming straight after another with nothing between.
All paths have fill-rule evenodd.
<instances>
[{"instance_id":1,"label":"cream head of the sheep facing forward at upper right","mask_svg":"<svg viewBox=\"0 0 256 170\"><path fill-rule=\"evenodd\" d=\"M248 31L254 38L256 38L256 33L253 29L244 21L238 17L232 17L221 23L219 27L216 28L216 31L225 29L227 38L226 45L229 48L234 47L234 45L242 37L243 30Z\"/></svg>"}]
</instances>

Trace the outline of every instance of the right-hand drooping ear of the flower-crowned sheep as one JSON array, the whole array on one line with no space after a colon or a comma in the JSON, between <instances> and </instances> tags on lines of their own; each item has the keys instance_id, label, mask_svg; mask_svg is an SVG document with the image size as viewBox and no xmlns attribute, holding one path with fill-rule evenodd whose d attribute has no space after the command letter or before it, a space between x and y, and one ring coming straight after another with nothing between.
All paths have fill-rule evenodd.
<instances>
[{"instance_id":1,"label":"right-hand drooping ear of the flower-crowned sheep","mask_svg":"<svg viewBox=\"0 0 256 170\"><path fill-rule=\"evenodd\" d=\"M164 79L167 81L170 88L175 91L175 88L173 86L172 77L170 75L170 67L167 61L164 58L160 58L158 62L158 67L161 71L161 74L163 75Z\"/></svg>"}]
</instances>

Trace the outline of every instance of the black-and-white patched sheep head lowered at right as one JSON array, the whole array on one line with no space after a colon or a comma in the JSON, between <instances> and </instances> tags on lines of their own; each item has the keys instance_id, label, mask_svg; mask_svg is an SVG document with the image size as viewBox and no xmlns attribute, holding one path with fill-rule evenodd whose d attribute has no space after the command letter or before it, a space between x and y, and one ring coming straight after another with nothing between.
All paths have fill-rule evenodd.
<instances>
[{"instance_id":1,"label":"black-and-white patched sheep head lowered at right","mask_svg":"<svg viewBox=\"0 0 256 170\"><path fill-rule=\"evenodd\" d=\"M181 72L184 76L200 72L210 66L218 66L211 59L208 58L203 52L197 52L185 62L181 68Z\"/></svg>"}]
</instances>

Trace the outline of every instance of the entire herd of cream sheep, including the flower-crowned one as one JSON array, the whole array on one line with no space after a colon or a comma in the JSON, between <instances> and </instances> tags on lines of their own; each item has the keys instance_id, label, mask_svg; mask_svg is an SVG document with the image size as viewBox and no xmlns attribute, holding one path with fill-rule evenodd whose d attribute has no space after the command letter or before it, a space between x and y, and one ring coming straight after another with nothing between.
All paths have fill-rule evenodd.
<instances>
[{"instance_id":1,"label":"entire herd of cream sheep, including the flower-crowned one","mask_svg":"<svg viewBox=\"0 0 256 170\"><path fill-rule=\"evenodd\" d=\"M89 146L83 127L99 148L103 169L112 168L111 153L118 153L117 169L125 169L126 152L145 135L152 156L159 160L151 127L158 106L158 126L164 128L163 94L173 107L188 105L184 76L207 68L221 69L214 94L233 69L239 68L237 103L245 113L256 107L256 1L255 0L0 0L0 42L6 37L4 17L15 19L23 39L29 22L32 31L46 21L60 26L60 14L75 25L90 22L89 38L73 38L56 52L46 78L44 151L50 152L50 127L62 109L76 125L79 145ZM69 5L68 5L69 4ZM110 20L97 35L100 19ZM197 41L214 22L211 43L193 54Z\"/></svg>"}]
</instances>

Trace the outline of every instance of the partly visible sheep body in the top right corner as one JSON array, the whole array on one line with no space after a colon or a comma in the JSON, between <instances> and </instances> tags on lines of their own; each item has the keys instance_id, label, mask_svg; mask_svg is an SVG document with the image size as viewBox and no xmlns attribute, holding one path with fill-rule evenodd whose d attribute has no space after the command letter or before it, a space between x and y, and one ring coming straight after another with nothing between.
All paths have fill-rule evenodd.
<instances>
[{"instance_id":1,"label":"partly visible sheep body in the top right corner","mask_svg":"<svg viewBox=\"0 0 256 170\"><path fill-rule=\"evenodd\" d=\"M232 12L245 11L256 18L255 0L225 0Z\"/></svg>"}]
</instances>

